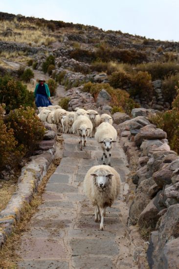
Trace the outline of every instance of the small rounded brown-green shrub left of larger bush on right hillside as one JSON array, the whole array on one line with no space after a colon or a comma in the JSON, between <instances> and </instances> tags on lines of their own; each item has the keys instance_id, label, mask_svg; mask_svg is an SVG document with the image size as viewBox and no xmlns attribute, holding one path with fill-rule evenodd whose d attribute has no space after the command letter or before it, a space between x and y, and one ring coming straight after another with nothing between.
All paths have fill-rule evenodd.
<instances>
[{"instance_id":1,"label":"small rounded brown-green shrub left of larger bush on right hillside","mask_svg":"<svg viewBox=\"0 0 179 269\"><path fill-rule=\"evenodd\" d=\"M131 75L126 72L114 72L108 77L110 85L117 89L126 89L131 86Z\"/></svg>"}]
</instances>

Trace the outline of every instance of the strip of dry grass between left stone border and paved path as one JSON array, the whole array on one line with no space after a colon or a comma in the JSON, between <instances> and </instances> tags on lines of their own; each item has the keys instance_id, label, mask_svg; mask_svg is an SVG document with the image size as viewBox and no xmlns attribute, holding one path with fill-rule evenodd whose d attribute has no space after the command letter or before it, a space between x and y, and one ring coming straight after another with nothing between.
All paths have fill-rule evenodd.
<instances>
[{"instance_id":1,"label":"strip of dry grass between left stone border and paved path","mask_svg":"<svg viewBox=\"0 0 179 269\"><path fill-rule=\"evenodd\" d=\"M0 269L16 269L16 263L21 261L21 257L17 256L16 251L19 249L19 245L21 244L22 233L27 230L27 223L30 221L32 215L37 212L38 206L42 203L42 195L44 193L46 183L60 164L60 161L61 159L53 161L31 203L24 204L21 222L17 224L16 231L7 239L6 244L0 250Z\"/></svg>"}]
</instances>

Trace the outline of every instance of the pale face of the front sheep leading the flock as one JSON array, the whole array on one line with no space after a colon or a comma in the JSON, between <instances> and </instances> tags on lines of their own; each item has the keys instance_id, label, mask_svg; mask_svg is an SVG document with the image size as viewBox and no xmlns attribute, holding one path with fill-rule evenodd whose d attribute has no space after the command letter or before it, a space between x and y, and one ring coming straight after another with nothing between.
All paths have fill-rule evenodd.
<instances>
[{"instance_id":1,"label":"pale face of the front sheep leading the flock","mask_svg":"<svg viewBox=\"0 0 179 269\"><path fill-rule=\"evenodd\" d=\"M107 187L110 183L110 180L112 179L112 176L113 176L112 173L110 173L109 171L105 171L105 170L104 171L96 170L91 175L93 176L96 185L100 189Z\"/></svg>"}]
</instances>

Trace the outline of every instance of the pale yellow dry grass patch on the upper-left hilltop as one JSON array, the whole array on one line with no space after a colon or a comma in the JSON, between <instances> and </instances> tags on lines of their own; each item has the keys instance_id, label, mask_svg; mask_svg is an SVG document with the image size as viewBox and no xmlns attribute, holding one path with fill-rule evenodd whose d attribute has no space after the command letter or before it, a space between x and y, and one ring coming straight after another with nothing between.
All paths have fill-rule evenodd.
<instances>
[{"instance_id":1,"label":"pale yellow dry grass patch on the upper-left hilltop","mask_svg":"<svg viewBox=\"0 0 179 269\"><path fill-rule=\"evenodd\" d=\"M12 34L4 36L8 29ZM31 46L49 46L56 41L56 38L50 37L50 30L47 27L40 27L29 22L2 21L0 23L0 41L27 43Z\"/></svg>"}]
</instances>

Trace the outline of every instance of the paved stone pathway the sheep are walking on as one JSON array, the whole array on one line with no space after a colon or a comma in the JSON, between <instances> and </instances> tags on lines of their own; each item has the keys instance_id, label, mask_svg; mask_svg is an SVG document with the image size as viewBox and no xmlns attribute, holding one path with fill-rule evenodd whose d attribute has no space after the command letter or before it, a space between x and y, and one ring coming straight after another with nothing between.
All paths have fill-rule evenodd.
<instances>
[{"instance_id":1,"label":"paved stone pathway the sheep are walking on","mask_svg":"<svg viewBox=\"0 0 179 269\"><path fill-rule=\"evenodd\" d=\"M105 230L94 222L94 208L82 193L82 182L91 166L101 164L101 148L88 139L79 150L79 138L63 134L62 161L50 177L44 203L28 223L17 251L23 269L136 269L126 238L128 208L122 192L107 209ZM129 172L125 154L118 143L112 152L112 167L125 187ZM27 228L28 228L27 227Z\"/></svg>"}]
</instances>

